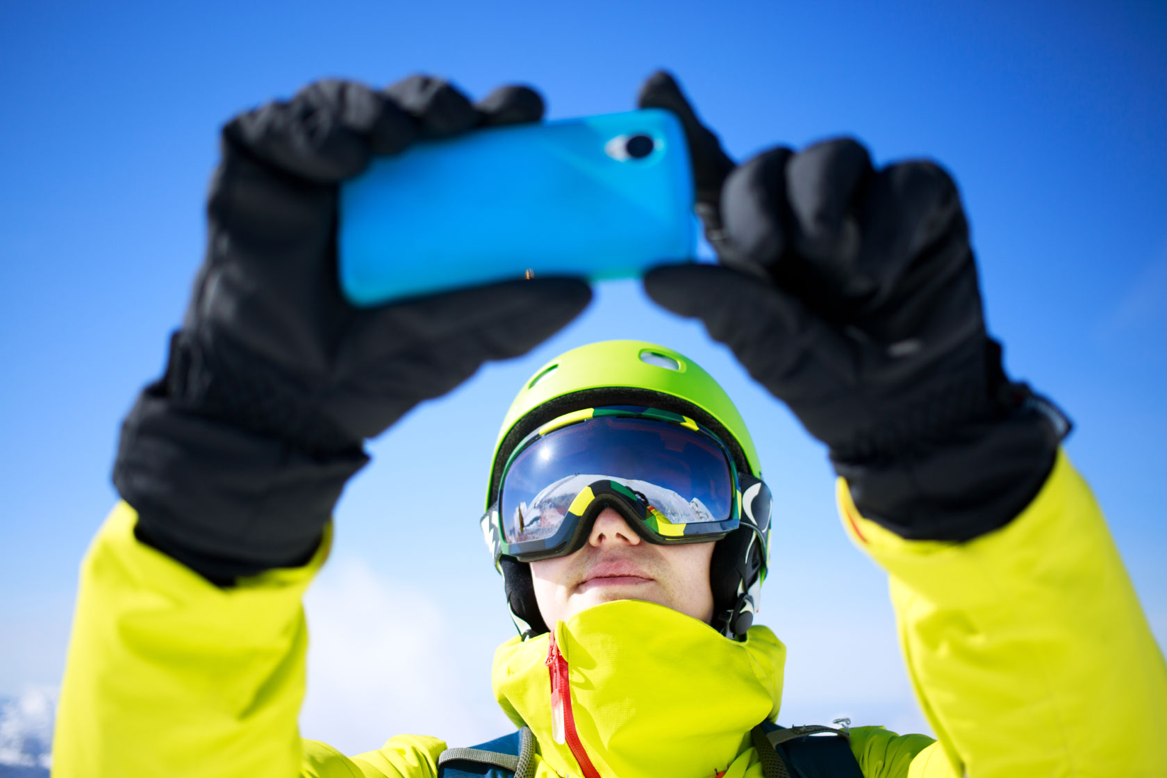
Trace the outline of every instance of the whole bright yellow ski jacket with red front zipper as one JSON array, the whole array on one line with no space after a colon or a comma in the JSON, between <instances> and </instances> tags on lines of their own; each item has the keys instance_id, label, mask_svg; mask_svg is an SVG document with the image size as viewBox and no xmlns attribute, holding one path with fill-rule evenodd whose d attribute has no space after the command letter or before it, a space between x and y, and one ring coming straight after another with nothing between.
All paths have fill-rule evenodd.
<instances>
[{"instance_id":1,"label":"whole bright yellow ski jacket with red front zipper","mask_svg":"<svg viewBox=\"0 0 1167 778\"><path fill-rule=\"evenodd\" d=\"M865 776L1165 776L1167 667L1093 498L1060 456L1014 521L965 544L844 525L889 574L904 657L939 741L852 730ZM60 778L422 778L436 738L345 757L301 740L303 568L218 589L139 544L119 504L86 554L54 744ZM785 649L669 609L609 603L559 623L575 727L606 778L761 778L749 729L778 713ZM494 688L538 738L538 778L579 776L552 736L551 636L499 647ZM861 659L857 658L857 661ZM464 745L464 744L457 744Z\"/></svg>"}]
</instances>

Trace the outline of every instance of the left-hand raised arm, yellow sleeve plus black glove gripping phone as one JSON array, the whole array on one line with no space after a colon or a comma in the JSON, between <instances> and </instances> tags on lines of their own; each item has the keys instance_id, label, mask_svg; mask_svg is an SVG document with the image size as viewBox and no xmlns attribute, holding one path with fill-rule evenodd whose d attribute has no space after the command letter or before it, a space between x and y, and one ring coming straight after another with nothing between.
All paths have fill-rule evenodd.
<instances>
[{"instance_id":1,"label":"left-hand raised arm, yellow sleeve plus black glove gripping phone","mask_svg":"<svg viewBox=\"0 0 1167 778\"><path fill-rule=\"evenodd\" d=\"M527 351L591 290L534 279L354 308L337 281L338 184L414 140L541 113L525 87L475 106L418 76L384 92L316 83L223 128L207 258L166 373L125 421L123 502L83 565L54 775L359 775L305 749L296 716L300 596L363 442ZM424 776L439 745L362 764Z\"/></svg>"}]
</instances>

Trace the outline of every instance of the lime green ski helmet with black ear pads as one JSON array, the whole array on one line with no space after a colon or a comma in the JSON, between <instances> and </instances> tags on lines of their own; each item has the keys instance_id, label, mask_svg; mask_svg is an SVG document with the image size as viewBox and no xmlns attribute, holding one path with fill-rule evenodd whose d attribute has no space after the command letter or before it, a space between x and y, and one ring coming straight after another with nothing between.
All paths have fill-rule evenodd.
<instances>
[{"instance_id":1,"label":"lime green ski helmet with black ear pads","mask_svg":"<svg viewBox=\"0 0 1167 778\"><path fill-rule=\"evenodd\" d=\"M603 341L572 349L543 365L511 404L490 463L487 507L498 496L499 479L516 446L539 426L562 414L613 405L672 411L711 429L729 449L740 472L761 478L754 441L733 401L713 378L684 355L643 341ZM764 490L763 490L764 491ZM768 491L766 492L768 495ZM711 565L714 626L740 638L753 621L766 577L769 499L743 500L764 511L756 527L741 526L718 541ZM753 516L752 516L753 518ZM503 574L511 616L524 635L547 631L539 615L530 566L501 555L488 535L495 565Z\"/></svg>"}]
</instances>

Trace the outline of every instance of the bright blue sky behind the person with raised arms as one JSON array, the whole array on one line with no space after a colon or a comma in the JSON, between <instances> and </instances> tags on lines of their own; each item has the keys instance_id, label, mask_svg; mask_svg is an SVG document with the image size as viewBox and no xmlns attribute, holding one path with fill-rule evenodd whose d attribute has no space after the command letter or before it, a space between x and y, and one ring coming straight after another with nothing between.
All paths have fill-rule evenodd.
<instances>
[{"instance_id":1,"label":"bright blue sky behind the person with raised arms","mask_svg":"<svg viewBox=\"0 0 1167 778\"><path fill-rule=\"evenodd\" d=\"M1163 639L1167 7L719 5L5 3L0 695L60 675L77 562L114 499L120 418L160 371L201 259L218 125L321 76L417 71L474 94L531 83L552 117L571 117L631 107L668 66L739 157L846 133L880 161L942 161L970 211L1008 367L1077 422L1068 450ZM780 506L762 621L790 645L783 717L920 727L882 575L838 527L824 451L698 325L624 281L531 356L487 367L372 443L309 596L320 651L306 733L363 749L386 728L452 741L505 728L485 679L511 629L476 530L487 460L520 381L608 337L687 352L753 429ZM384 633L348 628L376 614ZM403 673L454 642L464 661L446 686ZM415 715L385 714L386 695Z\"/></svg>"}]
</instances>

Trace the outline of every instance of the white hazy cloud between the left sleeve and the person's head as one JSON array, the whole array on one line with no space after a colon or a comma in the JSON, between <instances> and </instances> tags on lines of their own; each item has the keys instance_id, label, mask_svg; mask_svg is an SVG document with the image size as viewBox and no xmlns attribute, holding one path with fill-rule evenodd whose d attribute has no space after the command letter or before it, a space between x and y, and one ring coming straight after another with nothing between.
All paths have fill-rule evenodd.
<instances>
[{"instance_id":1,"label":"white hazy cloud between the left sleeve and the person's head","mask_svg":"<svg viewBox=\"0 0 1167 778\"><path fill-rule=\"evenodd\" d=\"M483 693L488 679L474 677L489 672L489 661L468 661L467 652L480 646L443 617L431 594L390 580L359 558L334 559L305 607L305 737L358 754L398 734L473 745L510 730Z\"/></svg>"}]
</instances>

